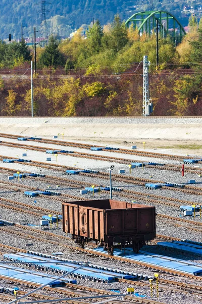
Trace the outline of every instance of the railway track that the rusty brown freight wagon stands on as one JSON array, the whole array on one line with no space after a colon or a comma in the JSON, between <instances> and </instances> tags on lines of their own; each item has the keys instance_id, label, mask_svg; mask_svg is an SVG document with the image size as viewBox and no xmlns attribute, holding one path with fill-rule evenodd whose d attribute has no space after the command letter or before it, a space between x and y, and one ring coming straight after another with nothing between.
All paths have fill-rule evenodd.
<instances>
[{"instance_id":1,"label":"railway track that the rusty brown freight wagon stands on","mask_svg":"<svg viewBox=\"0 0 202 304\"><path fill-rule=\"evenodd\" d=\"M89 249L89 248L78 248L78 247L75 247L73 245L65 244L61 241L59 242L59 241L55 241L55 240L50 239L50 238L42 238L42 237L38 237L36 235L34 236L33 233L32 233L32 235L30 235L28 233L25 233L24 231L23 232L22 231L16 231L15 226L10 227L9 229L7 227L2 226L2 227L0 227L0 231L5 231L7 233L18 235L18 236L20 236L20 238L34 239L34 240L37 240L39 242L49 243L49 244L53 244L53 245L56 245L56 246L63 246L65 248L68 248L69 250L83 252L83 253L87 253L87 254L93 254L95 256L103 256L103 257L107 257L109 259L114 259L114 260L129 262L129 263L132 263L132 264L141 265L145 268L152 268L156 271L165 271L167 273L176 274L176 275L184 276L184 277L187 277L187 278L190 278L190 279L193 279L193 280L202 281L202 277L197 277L197 276L194 276L194 275L190 275L188 273L182 273L182 272L176 271L176 270L170 270L170 269L167 269L165 267L161 267L160 265L151 265L149 263L142 262L142 261L136 261L136 260L134 261L134 260L132 260L130 258L126 258L126 257L109 256L105 252L98 252L98 251L95 252L93 249Z\"/></svg>"}]
</instances>

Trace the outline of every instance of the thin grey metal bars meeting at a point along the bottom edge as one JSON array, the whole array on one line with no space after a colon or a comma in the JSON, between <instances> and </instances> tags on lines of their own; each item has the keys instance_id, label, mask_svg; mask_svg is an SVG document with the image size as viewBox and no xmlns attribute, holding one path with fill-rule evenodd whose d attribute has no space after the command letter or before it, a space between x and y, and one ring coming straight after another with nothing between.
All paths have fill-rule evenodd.
<instances>
[{"instance_id":1,"label":"thin grey metal bars meeting at a point along the bottom edge","mask_svg":"<svg viewBox=\"0 0 202 304\"><path fill-rule=\"evenodd\" d=\"M60 299L56 298L54 300L26 301L26 302L19 302L18 304L52 303L52 302L69 301L69 300L78 301L78 300L85 300L85 299L99 299L99 298L105 298L105 297L110 297L110 298L112 297L112 299L110 299L110 301L113 301L113 300L122 299L124 296L125 296L124 294L119 294L117 296L116 296L116 294L106 294L106 295L84 296L84 297L75 297L75 298L60 298ZM98 303L101 304L101 303L105 303L108 301L109 301L109 299L104 300L102 302L98 302ZM96 304L98 304L98 303L96 303Z\"/></svg>"}]
</instances>

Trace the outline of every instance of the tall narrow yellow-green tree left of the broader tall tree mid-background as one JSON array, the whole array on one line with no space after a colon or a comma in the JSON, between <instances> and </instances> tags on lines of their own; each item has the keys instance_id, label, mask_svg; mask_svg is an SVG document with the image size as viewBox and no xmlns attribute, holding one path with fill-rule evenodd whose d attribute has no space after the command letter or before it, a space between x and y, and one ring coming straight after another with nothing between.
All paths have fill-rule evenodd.
<instances>
[{"instance_id":1,"label":"tall narrow yellow-green tree left of the broader tall tree mid-background","mask_svg":"<svg viewBox=\"0 0 202 304\"><path fill-rule=\"evenodd\" d=\"M92 54L98 53L102 47L103 29L97 20L87 31L87 39Z\"/></svg>"}]
</instances>

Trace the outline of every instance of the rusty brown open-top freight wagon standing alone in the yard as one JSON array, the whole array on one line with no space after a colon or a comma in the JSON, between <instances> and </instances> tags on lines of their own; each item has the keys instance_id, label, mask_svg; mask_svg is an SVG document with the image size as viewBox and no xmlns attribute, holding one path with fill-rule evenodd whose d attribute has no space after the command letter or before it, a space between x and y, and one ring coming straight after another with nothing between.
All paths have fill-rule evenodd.
<instances>
[{"instance_id":1,"label":"rusty brown open-top freight wagon standing alone in the yard","mask_svg":"<svg viewBox=\"0 0 202 304\"><path fill-rule=\"evenodd\" d=\"M156 237L155 207L115 200L63 203L63 231L83 248L100 242L110 255L114 246L134 252Z\"/></svg>"}]
</instances>

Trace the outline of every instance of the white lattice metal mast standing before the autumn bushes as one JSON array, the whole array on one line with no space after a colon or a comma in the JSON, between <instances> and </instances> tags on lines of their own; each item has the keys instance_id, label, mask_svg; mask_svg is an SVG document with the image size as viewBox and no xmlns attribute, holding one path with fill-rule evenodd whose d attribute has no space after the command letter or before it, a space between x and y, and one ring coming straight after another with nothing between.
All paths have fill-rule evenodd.
<instances>
[{"instance_id":1,"label":"white lattice metal mast standing before the autumn bushes","mask_svg":"<svg viewBox=\"0 0 202 304\"><path fill-rule=\"evenodd\" d=\"M143 105L142 116L149 116L153 112L153 104L149 98L149 85L148 85L148 57L143 56Z\"/></svg>"}]
</instances>

